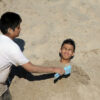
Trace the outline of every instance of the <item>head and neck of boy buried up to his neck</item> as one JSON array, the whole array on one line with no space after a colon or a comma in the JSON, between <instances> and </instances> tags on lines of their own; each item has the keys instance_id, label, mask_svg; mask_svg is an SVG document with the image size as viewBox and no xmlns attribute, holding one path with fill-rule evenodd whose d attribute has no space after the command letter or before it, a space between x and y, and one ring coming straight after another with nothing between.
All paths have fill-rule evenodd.
<instances>
[{"instance_id":1,"label":"head and neck of boy buried up to his neck","mask_svg":"<svg viewBox=\"0 0 100 100\"><path fill-rule=\"evenodd\" d=\"M75 42L72 39L66 39L61 45L59 52L60 62L63 64L69 64L70 60L74 57L75 52Z\"/></svg>"}]
</instances>

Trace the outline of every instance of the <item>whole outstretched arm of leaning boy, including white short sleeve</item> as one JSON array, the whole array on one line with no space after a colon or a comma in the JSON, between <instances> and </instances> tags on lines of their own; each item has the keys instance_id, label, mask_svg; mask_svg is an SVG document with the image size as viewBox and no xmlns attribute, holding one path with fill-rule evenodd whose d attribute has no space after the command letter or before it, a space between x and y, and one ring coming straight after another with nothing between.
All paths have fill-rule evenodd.
<instances>
[{"instance_id":1,"label":"whole outstretched arm of leaning boy, including white short sleeve","mask_svg":"<svg viewBox=\"0 0 100 100\"><path fill-rule=\"evenodd\" d=\"M54 68L54 67L42 67L36 66L29 62L29 60L23 55L22 51L18 47L18 45L9 46L9 58L10 62L14 65L21 65L28 72L34 73L59 73L64 74L64 69L62 68ZM12 50L11 50L12 48Z\"/></svg>"}]
</instances>

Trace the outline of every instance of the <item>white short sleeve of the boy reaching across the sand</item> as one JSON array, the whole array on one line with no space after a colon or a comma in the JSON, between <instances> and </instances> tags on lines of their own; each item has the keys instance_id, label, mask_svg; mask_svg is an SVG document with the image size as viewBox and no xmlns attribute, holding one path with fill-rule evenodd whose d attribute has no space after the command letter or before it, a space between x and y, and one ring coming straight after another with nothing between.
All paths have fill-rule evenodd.
<instances>
[{"instance_id":1,"label":"white short sleeve of the boy reaching across the sand","mask_svg":"<svg viewBox=\"0 0 100 100\"><path fill-rule=\"evenodd\" d=\"M29 62L29 60L23 55L20 48L15 45L12 46L9 51L9 61L15 66L23 65Z\"/></svg>"}]
</instances>

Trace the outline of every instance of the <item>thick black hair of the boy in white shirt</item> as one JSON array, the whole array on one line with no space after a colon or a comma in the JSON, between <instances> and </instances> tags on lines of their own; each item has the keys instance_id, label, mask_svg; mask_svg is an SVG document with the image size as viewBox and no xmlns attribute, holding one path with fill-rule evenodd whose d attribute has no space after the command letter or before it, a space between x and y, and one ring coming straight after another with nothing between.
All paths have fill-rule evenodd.
<instances>
[{"instance_id":1,"label":"thick black hair of the boy in white shirt","mask_svg":"<svg viewBox=\"0 0 100 100\"><path fill-rule=\"evenodd\" d=\"M6 12L0 18L0 30L3 34L8 33L8 28L15 29L22 19L20 15L14 12Z\"/></svg>"}]
</instances>

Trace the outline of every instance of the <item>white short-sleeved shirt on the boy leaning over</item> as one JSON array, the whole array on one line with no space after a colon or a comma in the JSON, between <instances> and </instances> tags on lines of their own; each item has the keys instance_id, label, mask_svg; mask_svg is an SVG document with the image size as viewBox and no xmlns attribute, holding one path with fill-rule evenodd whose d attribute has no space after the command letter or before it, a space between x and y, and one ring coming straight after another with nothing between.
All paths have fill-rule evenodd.
<instances>
[{"instance_id":1,"label":"white short-sleeved shirt on the boy leaning over","mask_svg":"<svg viewBox=\"0 0 100 100\"><path fill-rule=\"evenodd\" d=\"M7 90L3 85L8 78L12 64L15 66L28 63L19 46L5 35L0 35L0 96Z\"/></svg>"}]
</instances>

